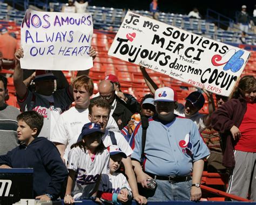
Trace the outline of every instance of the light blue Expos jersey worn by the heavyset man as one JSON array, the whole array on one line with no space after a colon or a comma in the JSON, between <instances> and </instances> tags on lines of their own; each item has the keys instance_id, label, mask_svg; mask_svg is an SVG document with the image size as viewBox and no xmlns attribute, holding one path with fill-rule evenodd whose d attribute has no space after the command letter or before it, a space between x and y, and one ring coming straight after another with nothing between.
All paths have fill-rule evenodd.
<instances>
[{"instance_id":1,"label":"light blue Expos jersey worn by the heavyset man","mask_svg":"<svg viewBox=\"0 0 256 205\"><path fill-rule=\"evenodd\" d=\"M133 149L131 158L140 161L141 122L134 129L130 145ZM146 172L160 176L189 175L193 162L208 155L208 147L192 120L176 117L164 125L156 117L149 119L143 159L143 168Z\"/></svg>"}]
</instances>

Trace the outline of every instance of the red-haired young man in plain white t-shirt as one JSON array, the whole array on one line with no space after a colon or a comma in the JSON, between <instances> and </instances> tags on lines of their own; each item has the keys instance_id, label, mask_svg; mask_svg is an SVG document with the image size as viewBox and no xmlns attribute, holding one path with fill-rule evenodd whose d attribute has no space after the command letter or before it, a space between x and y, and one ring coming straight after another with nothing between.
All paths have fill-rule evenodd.
<instances>
[{"instance_id":1,"label":"red-haired young man in plain white t-shirt","mask_svg":"<svg viewBox=\"0 0 256 205\"><path fill-rule=\"evenodd\" d=\"M55 143L64 161L68 160L70 147L77 142L84 124L90 122L88 106L93 94L93 87L93 81L88 76L77 77L73 81L73 98L76 105L61 114L56 122L50 140ZM113 118L109 121L108 126L118 129Z\"/></svg>"}]
</instances>

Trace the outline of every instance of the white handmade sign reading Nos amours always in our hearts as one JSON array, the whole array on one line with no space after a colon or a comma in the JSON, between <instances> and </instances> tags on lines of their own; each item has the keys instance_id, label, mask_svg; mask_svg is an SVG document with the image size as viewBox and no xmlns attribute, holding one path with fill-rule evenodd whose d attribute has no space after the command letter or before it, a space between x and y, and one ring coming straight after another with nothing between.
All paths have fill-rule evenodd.
<instances>
[{"instance_id":1,"label":"white handmade sign reading Nos amours always in our hearts","mask_svg":"<svg viewBox=\"0 0 256 205\"><path fill-rule=\"evenodd\" d=\"M91 13L26 10L21 25L22 69L87 70L93 35Z\"/></svg>"}]
</instances>

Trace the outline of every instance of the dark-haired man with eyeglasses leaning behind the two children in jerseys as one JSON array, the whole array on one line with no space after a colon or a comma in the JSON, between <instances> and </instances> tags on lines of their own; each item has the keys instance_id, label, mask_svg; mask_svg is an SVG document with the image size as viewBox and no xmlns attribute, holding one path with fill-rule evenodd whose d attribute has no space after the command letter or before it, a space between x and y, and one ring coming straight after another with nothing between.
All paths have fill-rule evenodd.
<instances>
[{"instance_id":1,"label":"dark-haired man with eyeglasses leaning behind the two children in jerseys","mask_svg":"<svg viewBox=\"0 0 256 205\"><path fill-rule=\"evenodd\" d=\"M100 125L100 129L105 132L102 137L102 141L105 147L109 147L113 145L110 132L106 129L107 122L110 118L110 105L106 99L97 98L92 99L89 105L89 120L91 122L97 123ZM124 136L119 132L113 132L114 138L116 139L116 145L126 154L127 158L122 160L124 167L125 167L125 174L128 178L128 182L132 189L133 199L136 200L139 204L143 204L145 201L145 197L139 195L136 177L134 175L132 169L132 162L131 162L131 154L132 149L128 142L125 140ZM78 139L79 140L79 139Z\"/></svg>"}]
</instances>

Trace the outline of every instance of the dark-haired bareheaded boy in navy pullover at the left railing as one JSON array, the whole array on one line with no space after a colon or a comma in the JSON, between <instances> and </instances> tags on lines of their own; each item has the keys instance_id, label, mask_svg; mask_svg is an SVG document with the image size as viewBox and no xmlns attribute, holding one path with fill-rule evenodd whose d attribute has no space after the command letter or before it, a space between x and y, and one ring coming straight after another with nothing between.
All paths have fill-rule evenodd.
<instances>
[{"instance_id":1,"label":"dark-haired bareheaded boy in navy pullover at the left railing","mask_svg":"<svg viewBox=\"0 0 256 205\"><path fill-rule=\"evenodd\" d=\"M59 197L68 170L58 149L46 138L38 137L44 118L36 111L18 115L18 140L21 145L0 156L0 168L33 168L33 194L42 201Z\"/></svg>"}]
</instances>

